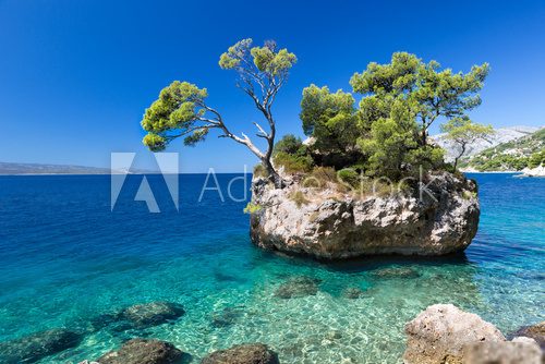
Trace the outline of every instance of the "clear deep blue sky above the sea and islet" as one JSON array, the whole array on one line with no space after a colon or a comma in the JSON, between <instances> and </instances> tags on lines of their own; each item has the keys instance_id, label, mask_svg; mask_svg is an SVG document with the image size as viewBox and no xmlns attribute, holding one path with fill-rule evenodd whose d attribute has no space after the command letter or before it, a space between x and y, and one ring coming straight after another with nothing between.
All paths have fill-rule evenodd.
<instances>
[{"instance_id":1,"label":"clear deep blue sky above the sea and islet","mask_svg":"<svg viewBox=\"0 0 545 364\"><path fill-rule=\"evenodd\" d=\"M235 88L235 74L218 66L219 54L246 37L276 39L299 58L275 105L280 135L302 135L303 87L350 90L354 72L399 50L455 71L489 62L472 118L545 124L543 0L0 0L0 161L109 166L111 151L136 151L138 165L153 168L140 120L173 80L207 87L232 130L253 132L259 114ZM182 153L183 172L256 162L215 136L168 151Z\"/></svg>"}]
</instances>

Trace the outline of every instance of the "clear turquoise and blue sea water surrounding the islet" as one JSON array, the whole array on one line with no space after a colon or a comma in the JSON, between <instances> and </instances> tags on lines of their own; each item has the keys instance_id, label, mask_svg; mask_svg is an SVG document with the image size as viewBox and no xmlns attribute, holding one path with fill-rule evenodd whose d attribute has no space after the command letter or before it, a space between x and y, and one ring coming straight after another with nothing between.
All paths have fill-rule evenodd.
<instances>
[{"instance_id":1,"label":"clear turquoise and blue sea water surrounding the islet","mask_svg":"<svg viewBox=\"0 0 545 364\"><path fill-rule=\"evenodd\" d=\"M227 196L227 181L219 182ZM317 264L250 243L244 202L222 203L205 175L181 175L180 211L160 177L149 177L161 214L132 198L132 175L110 211L110 180L0 177L0 341L88 321L136 303L171 301L186 314L141 331L104 328L41 363L96 359L130 337L173 342L193 355L261 341L281 363L397 363L403 325L433 303L453 303L504 332L545 318L545 180L474 174L481 223L465 254L448 258L368 258ZM233 185L243 195L242 183ZM377 278L376 269L416 278ZM316 295L281 300L290 277L322 279ZM358 300L347 288L366 290ZM233 324L213 324L225 311Z\"/></svg>"}]
</instances>

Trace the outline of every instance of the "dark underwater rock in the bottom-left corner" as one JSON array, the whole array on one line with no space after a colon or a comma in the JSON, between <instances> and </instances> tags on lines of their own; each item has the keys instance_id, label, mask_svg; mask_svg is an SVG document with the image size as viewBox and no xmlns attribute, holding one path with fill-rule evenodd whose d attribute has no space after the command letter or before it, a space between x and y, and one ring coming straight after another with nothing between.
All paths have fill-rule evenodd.
<instances>
[{"instance_id":1,"label":"dark underwater rock in the bottom-left corner","mask_svg":"<svg viewBox=\"0 0 545 364\"><path fill-rule=\"evenodd\" d=\"M76 347L81 340L82 335L61 328L36 332L0 343L0 363L34 363Z\"/></svg>"}]
</instances>

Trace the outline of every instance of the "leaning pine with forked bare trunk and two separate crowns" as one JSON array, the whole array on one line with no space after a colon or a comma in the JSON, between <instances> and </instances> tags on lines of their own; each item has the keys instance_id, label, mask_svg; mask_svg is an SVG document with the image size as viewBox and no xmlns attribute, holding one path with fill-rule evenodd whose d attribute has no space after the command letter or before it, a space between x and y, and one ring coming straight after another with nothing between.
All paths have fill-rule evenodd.
<instances>
[{"instance_id":1,"label":"leaning pine with forked bare trunk and two separate crowns","mask_svg":"<svg viewBox=\"0 0 545 364\"><path fill-rule=\"evenodd\" d=\"M252 39L237 43L220 57L219 65L225 70L237 71L237 86L250 96L268 123L265 129L254 122L258 130L256 136L267 142L265 151L244 133L238 136L229 130L219 111L206 104L206 88L179 81L165 87L159 98L146 109L142 120L142 128L148 133L143 139L144 145L153 151L159 151L173 139L183 137L184 144L192 146L204 141L208 132L216 129L219 130L220 137L229 137L243 144L256 155L270 180L280 187L282 180L271 162L276 135L271 107L295 62L295 54L287 49L277 49L275 41L266 41L263 47L252 47Z\"/></svg>"}]
</instances>

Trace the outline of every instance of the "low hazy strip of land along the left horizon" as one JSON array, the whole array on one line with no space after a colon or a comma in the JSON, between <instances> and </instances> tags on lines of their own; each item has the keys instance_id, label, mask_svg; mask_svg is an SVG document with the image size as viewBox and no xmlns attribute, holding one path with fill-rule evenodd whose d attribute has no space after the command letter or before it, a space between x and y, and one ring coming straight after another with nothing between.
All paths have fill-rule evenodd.
<instances>
[{"instance_id":1,"label":"low hazy strip of land along the left horizon","mask_svg":"<svg viewBox=\"0 0 545 364\"><path fill-rule=\"evenodd\" d=\"M124 173L124 171L113 171ZM131 170L131 173L156 173L146 170ZM70 166L70 165L40 165L14 163L0 161L0 174L110 174L109 168Z\"/></svg>"}]
</instances>

